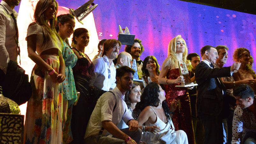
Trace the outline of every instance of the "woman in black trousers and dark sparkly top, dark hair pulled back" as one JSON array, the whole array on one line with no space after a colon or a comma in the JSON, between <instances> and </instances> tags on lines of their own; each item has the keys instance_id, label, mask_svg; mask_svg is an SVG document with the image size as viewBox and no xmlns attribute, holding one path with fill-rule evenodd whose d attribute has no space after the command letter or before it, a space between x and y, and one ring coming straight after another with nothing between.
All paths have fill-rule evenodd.
<instances>
[{"instance_id":1,"label":"woman in black trousers and dark sparkly top, dark hair pulled back","mask_svg":"<svg viewBox=\"0 0 256 144\"><path fill-rule=\"evenodd\" d=\"M77 99L77 104L73 106L71 118L71 131L73 141L71 143L84 143L84 134L87 123L90 119L88 90L91 73L94 69L90 58L84 53L85 47L89 43L89 32L85 28L77 28L73 33L72 50L77 55L77 64L73 68L73 74L77 91L80 92L80 97Z\"/></svg>"}]
</instances>

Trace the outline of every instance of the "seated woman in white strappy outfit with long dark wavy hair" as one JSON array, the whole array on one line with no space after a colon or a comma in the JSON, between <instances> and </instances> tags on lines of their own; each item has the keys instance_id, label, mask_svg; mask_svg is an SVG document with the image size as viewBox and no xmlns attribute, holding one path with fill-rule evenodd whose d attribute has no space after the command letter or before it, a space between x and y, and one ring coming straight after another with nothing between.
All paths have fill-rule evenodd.
<instances>
[{"instance_id":1,"label":"seated woman in white strappy outfit with long dark wavy hair","mask_svg":"<svg viewBox=\"0 0 256 144\"><path fill-rule=\"evenodd\" d=\"M149 83L142 94L141 110L138 118L143 137L147 143L187 144L187 134L175 131L170 109L165 101L165 91L155 82ZM171 103L171 112L177 108L177 101ZM171 114L172 115L172 114ZM144 126L142 126L144 124Z\"/></svg>"}]
</instances>

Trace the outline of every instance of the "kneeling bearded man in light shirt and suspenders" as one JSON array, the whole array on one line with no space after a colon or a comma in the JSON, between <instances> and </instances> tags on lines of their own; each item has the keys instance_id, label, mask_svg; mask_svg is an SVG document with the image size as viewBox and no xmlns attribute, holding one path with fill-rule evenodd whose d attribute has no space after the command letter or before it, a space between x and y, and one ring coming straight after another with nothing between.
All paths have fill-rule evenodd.
<instances>
[{"instance_id":1,"label":"kneeling bearded man in light shirt and suspenders","mask_svg":"<svg viewBox=\"0 0 256 144\"><path fill-rule=\"evenodd\" d=\"M117 85L113 90L104 93L97 101L86 128L85 143L139 143L142 131L138 128L138 121L133 119L123 100L125 93L132 88L134 73L135 71L127 66L116 69ZM121 119L129 128L117 128L116 125ZM113 137L108 136L109 134Z\"/></svg>"}]
</instances>

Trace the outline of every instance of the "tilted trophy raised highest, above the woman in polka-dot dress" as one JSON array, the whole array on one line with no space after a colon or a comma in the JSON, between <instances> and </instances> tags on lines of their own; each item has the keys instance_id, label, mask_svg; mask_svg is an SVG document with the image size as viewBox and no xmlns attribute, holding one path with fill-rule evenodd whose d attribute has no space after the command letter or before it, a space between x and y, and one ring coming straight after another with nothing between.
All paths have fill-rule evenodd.
<instances>
[{"instance_id":1,"label":"tilted trophy raised highest, above the woman in polka-dot dress","mask_svg":"<svg viewBox=\"0 0 256 144\"><path fill-rule=\"evenodd\" d=\"M94 4L92 2L93 0L89 0L88 2L77 8L75 11L73 9L69 9L69 11L77 18L77 20L81 24L83 24L82 20L98 6L98 4ZM90 7L90 5L92 5L92 7Z\"/></svg>"}]
</instances>

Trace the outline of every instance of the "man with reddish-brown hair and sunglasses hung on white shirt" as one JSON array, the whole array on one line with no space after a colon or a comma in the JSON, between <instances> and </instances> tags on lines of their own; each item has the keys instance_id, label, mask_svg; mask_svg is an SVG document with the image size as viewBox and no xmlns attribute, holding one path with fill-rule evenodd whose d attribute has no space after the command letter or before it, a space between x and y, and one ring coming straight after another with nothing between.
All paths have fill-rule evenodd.
<instances>
[{"instance_id":1,"label":"man with reddish-brown hair and sunglasses hung on white shirt","mask_svg":"<svg viewBox=\"0 0 256 144\"><path fill-rule=\"evenodd\" d=\"M94 73L92 73L89 83L91 89L96 87L108 91L116 86L116 68L113 59L117 57L120 48L121 42L115 39L109 39L103 43L102 57L92 61L94 64Z\"/></svg>"}]
</instances>

